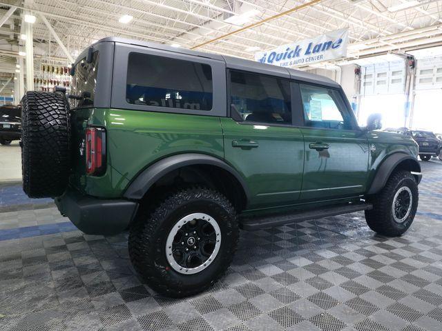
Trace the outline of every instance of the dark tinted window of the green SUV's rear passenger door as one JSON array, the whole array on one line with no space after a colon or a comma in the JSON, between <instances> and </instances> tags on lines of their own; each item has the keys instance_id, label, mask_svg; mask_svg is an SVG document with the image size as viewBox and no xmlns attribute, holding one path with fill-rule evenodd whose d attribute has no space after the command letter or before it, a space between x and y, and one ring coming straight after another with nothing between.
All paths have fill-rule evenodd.
<instances>
[{"instance_id":1,"label":"dark tinted window of the green SUV's rear passenger door","mask_svg":"<svg viewBox=\"0 0 442 331\"><path fill-rule=\"evenodd\" d=\"M290 82L231 71L231 110L244 121L291 124Z\"/></svg>"}]
</instances>

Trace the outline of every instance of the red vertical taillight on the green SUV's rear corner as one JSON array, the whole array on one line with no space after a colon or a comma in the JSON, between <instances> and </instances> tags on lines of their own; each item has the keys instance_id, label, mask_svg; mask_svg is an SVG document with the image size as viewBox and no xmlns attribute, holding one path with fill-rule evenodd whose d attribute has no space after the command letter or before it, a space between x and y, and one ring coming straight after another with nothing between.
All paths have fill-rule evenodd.
<instances>
[{"instance_id":1,"label":"red vertical taillight on the green SUV's rear corner","mask_svg":"<svg viewBox=\"0 0 442 331\"><path fill-rule=\"evenodd\" d=\"M86 174L99 176L106 171L106 130L86 128Z\"/></svg>"}]
</instances>

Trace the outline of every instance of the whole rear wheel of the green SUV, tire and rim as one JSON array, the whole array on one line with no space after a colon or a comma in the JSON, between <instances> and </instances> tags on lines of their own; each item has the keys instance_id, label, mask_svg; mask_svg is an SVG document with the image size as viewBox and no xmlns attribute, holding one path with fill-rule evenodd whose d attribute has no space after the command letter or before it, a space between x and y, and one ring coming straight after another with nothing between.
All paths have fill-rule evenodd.
<instances>
[{"instance_id":1,"label":"whole rear wheel of the green SUV, tire and rim","mask_svg":"<svg viewBox=\"0 0 442 331\"><path fill-rule=\"evenodd\" d=\"M229 268L238 242L236 212L207 188L173 192L131 226L129 254L153 290L186 297L213 285Z\"/></svg>"}]
</instances>

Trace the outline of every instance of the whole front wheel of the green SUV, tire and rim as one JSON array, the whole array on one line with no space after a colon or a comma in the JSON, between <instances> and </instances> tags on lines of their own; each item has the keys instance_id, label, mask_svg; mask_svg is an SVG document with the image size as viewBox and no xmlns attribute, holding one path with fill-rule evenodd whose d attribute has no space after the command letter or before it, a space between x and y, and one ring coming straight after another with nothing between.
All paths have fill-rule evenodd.
<instances>
[{"instance_id":1,"label":"whole front wheel of the green SUV, tire and rim","mask_svg":"<svg viewBox=\"0 0 442 331\"><path fill-rule=\"evenodd\" d=\"M369 228L388 237L397 237L410 228L416 214L419 191L408 171L398 171L374 197L372 210L365 210Z\"/></svg>"}]
</instances>

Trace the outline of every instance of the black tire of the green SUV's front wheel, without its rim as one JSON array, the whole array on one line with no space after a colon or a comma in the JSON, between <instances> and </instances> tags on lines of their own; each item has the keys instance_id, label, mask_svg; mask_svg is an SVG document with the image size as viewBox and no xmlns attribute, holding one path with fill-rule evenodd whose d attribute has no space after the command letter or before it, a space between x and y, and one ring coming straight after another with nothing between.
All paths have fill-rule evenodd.
<instances>
[{"instance_id":1,"label":"black tire of the green SUV's front wheel, without its rim","mask_svg":"<svg viewBox=\"0 0 442 331\"><path fill-rule=\"evenodd\" d=\"M394 221L392 212L392 203L394 194L402 186L407 186L412 192L412 208L408 217L403 223ZM414 176L405 170L394 172L387 184L374 196L370 197L369 202L373 203L372 210L365 210L365 219L370 229L387 237L401 236L410 228L416 214L417 205L419 202L419 190L417 188L416 179Z\"/></svg>"}]
</instances>

